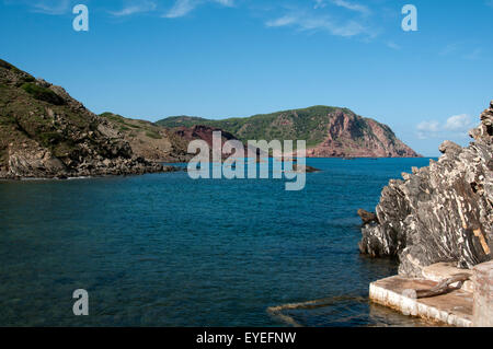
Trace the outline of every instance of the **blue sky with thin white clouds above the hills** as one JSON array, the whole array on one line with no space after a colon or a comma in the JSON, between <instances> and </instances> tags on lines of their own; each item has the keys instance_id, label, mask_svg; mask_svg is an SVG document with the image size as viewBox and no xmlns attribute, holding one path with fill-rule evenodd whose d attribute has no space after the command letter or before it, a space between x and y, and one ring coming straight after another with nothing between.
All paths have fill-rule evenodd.
<instances>
[{"instance_id":1,"label":"blue sky with thin white clouds above the hills","mask_svg":"<svg viewBox=\"0 0 493 349\"><path fill-rule=\"evenodd\" d=\"M341 106L436 156L445 139L468 144L493 100L492 16L493 0L0 0L0 58L94 113Z\"/></svg>"}]
</instances>

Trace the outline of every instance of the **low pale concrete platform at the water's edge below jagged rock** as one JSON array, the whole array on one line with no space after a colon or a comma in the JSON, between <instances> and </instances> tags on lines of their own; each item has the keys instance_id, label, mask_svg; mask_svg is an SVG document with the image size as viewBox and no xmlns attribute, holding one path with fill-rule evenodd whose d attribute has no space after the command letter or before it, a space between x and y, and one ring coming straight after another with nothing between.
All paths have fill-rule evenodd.
<instances>
[{"instance_id":1,"label":"low pale concrete platform at the water's edge below jagged rock","mask_svg":"<svg viewBox=\"0 0 493 349\"><path fill-rule=\"evenodd\" d=\"M473 293L471 292L461 289L427 299L412 299L403 295L404 290L431 289L437 283L432 280L394 276L370 283L369 298L372 302L392 307L404 315L419 316L451 326L472 327Z\"/></svg>"}]
</instances>

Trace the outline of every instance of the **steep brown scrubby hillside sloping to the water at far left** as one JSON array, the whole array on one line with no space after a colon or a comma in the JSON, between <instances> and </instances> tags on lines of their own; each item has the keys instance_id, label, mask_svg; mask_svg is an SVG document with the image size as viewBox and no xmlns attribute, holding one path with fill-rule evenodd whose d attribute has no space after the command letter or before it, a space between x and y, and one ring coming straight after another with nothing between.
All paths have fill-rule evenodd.
<instances>
[{"instance_id":1,"label":"steep brown scrubby hillside sloping to the water at far left","mask_svg":"<svg viewBox=\"0 0 493 349\"><path fill-rule=\"evenodd\" d=\"M0 60L0 178L167 171L134 154L107 119Z\"/></svg>"}]
</instances>

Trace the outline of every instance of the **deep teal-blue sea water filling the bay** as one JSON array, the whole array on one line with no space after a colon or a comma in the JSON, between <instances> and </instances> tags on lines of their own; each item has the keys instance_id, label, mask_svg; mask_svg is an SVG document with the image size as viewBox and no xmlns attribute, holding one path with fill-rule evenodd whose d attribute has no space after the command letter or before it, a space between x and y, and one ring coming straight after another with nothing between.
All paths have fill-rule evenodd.
<instances>
[{"instance_id":1,"label":"deep teal-blue sea water filling the bay","mask_svg":"<svg viewBox=\"0 0 493 349\"><path fill-rule=\"evenodd\" d=\"M427 159L309 159L302 191L283 179L186 173L0 183L1 326L420 325L366 301L395 274L360 256L358 208ZM72 314L76 289L90 315Z\"/></svg>"}]
</instances>

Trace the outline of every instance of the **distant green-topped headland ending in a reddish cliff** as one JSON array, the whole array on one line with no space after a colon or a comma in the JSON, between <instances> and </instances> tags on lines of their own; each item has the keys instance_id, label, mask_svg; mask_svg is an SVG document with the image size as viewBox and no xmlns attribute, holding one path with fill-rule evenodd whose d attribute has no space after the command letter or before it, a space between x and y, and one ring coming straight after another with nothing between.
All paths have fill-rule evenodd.
<instances>
[{"instance_id":1,"label":"distant green-topped headland ending in a reddish cliff","mask_svg":"<svg viewBox=\"0 0 493 349\"><path fill-rule=\"evenodd\" d=\"M208 125L248 140L306 140L310 158L415 158L386 125L347 108L313 106L246 118L208 120L177 116L158 121L165 127Z\"/></svg>"}]
</instances>

